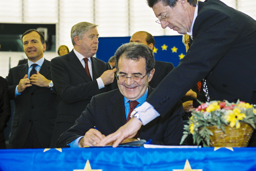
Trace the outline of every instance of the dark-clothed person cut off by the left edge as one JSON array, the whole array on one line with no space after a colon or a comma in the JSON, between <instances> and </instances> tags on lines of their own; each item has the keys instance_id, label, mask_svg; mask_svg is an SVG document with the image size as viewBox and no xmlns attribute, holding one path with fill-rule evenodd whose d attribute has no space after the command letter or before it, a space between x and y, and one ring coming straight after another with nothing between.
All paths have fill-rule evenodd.
<instances>
[{"instance_id":1,"label":"dark-clothed person cut off by the left edge","mask_svg":"<svg viewBox=\"0 0 256 171\"><path fill-rule=\"evenodd\" d=\"M5 149L4 129L11 117L11 105L8 93L8 83L0 76L0 149Z\"/></svg>"}]
</instances>

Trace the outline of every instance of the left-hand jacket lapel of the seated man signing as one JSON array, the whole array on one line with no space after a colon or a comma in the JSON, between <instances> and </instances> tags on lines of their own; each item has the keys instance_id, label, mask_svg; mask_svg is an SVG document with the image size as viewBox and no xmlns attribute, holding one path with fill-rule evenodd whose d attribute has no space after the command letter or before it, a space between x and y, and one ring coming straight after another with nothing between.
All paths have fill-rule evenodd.
<instances>
[{"instance_id":1,"label":"left-hand jacket lapel of the seated man signing","mask_svg":"<svg viewBox=\"0 0 256 171\"><path fill-rule=\"evenodd\" d=\"M115 130L126 123L123 95L117 90L117 93L111 97L112 110L109 113L111 125Z\"/></svg>"}]
</instances>

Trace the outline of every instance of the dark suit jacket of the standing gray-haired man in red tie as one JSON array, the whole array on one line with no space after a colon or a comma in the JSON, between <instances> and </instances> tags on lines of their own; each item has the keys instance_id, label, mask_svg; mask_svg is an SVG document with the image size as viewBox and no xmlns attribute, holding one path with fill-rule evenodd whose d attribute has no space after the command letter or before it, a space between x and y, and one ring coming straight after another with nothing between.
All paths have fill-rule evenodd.
<instances>
[{"instance_id":1,"label":"dark suit jacket of the standing gray-haired man in red tie","mask_svg":"<svg viewBox=\"0 0 256 171\"><path fill-rule=\"evenodd\" d=\"M109 86L99 90L96 79L110 66L95 57L91 57L91 61L93 81L73 50L51 61L53 83L58 93L58 116L51 147L56 147L60 135L74 125L92 96L108 91Z\"/></svg>"}]
</instances>

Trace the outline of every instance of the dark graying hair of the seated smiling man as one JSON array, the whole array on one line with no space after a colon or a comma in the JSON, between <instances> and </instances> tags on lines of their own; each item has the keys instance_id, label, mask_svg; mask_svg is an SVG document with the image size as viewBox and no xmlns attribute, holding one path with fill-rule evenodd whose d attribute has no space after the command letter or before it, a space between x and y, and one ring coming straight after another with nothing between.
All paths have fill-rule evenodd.
<instances>
[{"instance_id":1,"label":"dark graying hair of the seated smiling man","mask_svg":"<svg viewBox=\"0 0 256 171\"><path fill-rule=\"evenodd\" d=\"M146 59L146 72L149 73L155 65L155 58L153 50L142 43L125 43L122 44L115 52L115 67L118 71L118 60L124 54L125 58L132 60L139 60L140 58Z\"/></svg>"}]
</instances>

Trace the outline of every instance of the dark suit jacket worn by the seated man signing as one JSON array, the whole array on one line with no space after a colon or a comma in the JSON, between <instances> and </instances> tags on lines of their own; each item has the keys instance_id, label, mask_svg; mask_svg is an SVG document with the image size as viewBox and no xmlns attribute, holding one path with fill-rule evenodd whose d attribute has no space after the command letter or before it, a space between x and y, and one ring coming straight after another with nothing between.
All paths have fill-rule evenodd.
<instances>
[{"instance_id":1,"label":"dark suit jacket worn by the seated man signing","mask_svg":"<svg viewBox=\"0 0 256 171\"><path fill-rule=\"evenodd\" d=\"M153 89L149 87L148 95L152 91ZM139 137L145 140L152 139L153 144L179 145L183 132L181 113L182 105L179 102L164 118L158 117L146 126L142 126ZM96 95L76 120L75 125L61 135L58 146L66 147L68 143L84 136L94 126L107 136L125 123L123 95L118 89Z\"/></svg>"}]
</instances>

